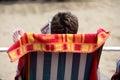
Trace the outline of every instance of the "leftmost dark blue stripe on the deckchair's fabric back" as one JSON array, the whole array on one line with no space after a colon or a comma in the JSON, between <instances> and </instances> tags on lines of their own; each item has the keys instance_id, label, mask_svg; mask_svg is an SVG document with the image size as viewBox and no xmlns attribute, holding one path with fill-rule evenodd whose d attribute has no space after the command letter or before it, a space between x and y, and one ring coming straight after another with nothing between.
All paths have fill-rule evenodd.
<instances>
[{"instance_id":1,"label":"leftmost dark blue stripe on the deckchair's fabric back","mask_svg":"<svg viewBox=\"0 0 120 80\"><path fill-rule=\"evenodd\" d=\"M37 52L30 54L30 80L36 80Z\"/></svg>"}]
</instances>

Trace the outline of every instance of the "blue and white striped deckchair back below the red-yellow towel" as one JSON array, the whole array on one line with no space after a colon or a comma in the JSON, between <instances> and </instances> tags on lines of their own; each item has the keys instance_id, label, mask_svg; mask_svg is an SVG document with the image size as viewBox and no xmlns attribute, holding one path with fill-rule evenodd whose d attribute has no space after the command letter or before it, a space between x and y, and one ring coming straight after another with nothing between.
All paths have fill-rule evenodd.
<instances>
[{"instance_id":1,"label":"blue and white striped deckchair back below the red-yellow towel","mask_svg":"<svg viewBox=\"0 0 120 80\"><path fill-rule=\"evenodd\" d=\"M22 80L90 80L93 58L100 57L99 50L97 56L95 53L32 52L26 55L27 67L23 71L26 76ZM99 58L96 61L98 65Z\"/></svg>"}]
</instances>

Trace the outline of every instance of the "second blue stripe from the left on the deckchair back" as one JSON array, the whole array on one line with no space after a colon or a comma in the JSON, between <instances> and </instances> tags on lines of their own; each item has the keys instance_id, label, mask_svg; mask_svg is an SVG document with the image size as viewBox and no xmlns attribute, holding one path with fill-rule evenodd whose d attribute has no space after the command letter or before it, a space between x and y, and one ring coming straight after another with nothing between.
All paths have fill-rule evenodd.
<instances>
[{"instance_id":1,"label":"second blue stripe from the left on the deckchair back","mask_svg":"<svg viewBox=\"0 0 120 80\"><path fill-rule=\"evenodd\" d=\"M44 53L43 80L50 80L51 58L51 52Z\"/></svg>"}]
</instances>

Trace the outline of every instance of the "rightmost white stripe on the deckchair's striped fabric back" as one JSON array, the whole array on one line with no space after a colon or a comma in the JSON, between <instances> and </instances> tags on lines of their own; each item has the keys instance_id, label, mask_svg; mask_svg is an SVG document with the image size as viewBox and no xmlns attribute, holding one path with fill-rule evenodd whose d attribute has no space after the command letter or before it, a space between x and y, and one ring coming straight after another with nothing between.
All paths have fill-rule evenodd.
<instances>
[{"instance_id":1,"label":"rightmost white stripe on the deckchair's striped fabric back","mask_svg":"<svg viewBox=\"0 0 120 80\"><path fill-rule=\"evenodd\" d=\"M87 57L87 54L80 55L78 80L84 80L86 57Z\"/></svg>"}]
</instances>

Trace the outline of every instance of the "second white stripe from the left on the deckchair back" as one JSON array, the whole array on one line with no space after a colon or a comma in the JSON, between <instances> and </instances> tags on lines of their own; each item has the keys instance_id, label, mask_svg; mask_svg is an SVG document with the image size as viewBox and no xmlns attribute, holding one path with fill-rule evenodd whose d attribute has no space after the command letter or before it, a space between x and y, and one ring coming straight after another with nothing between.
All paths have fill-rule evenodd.
<instances>
[{"instance_id":1,"label":"second white stripe from the left on the deckchair back","mask_svg":"<svg viewBox=\"0 0 120 80\"><path fill-rule=\"evenodd\" d=\"M57 80L59 53L52 53L50 80Z\"/></svg>"}]
</instances>

